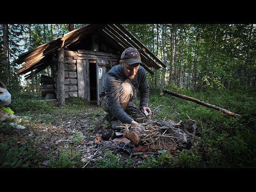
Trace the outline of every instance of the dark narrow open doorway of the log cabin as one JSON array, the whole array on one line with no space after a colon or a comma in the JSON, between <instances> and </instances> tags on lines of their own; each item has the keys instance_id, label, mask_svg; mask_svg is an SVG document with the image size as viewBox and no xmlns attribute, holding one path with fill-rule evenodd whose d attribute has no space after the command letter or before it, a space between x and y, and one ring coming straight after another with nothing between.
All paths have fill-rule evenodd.
<instances>
[{"instance_id":1,"label":"dark narrow open doorway of the log cabin","mask_svg":"<svg viewBox=\"0 0 256 192\"><path fill-rule=\"evenodd\" d=\"M91 101L97 102L97 73L96 73L96 61L89 60L90 70L90 98Z\"/></svg>"}]
</instances>

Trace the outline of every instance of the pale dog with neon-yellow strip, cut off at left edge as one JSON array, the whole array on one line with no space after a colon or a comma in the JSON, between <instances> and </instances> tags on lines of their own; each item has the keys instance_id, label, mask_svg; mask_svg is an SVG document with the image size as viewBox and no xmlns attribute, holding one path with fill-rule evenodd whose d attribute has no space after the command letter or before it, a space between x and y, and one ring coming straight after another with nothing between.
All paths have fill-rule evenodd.
<instances>
[{"instance_id":1,"label":"pale dog with neon-yellow strip, cut off at left edge","mask_svg":"<svg viewBox=\"0 0 256 192\"><path fill-rule=\"evenodd\" d=\"M17 116L10 113L12 110L4 107L11 104L12 96L7 91L6 86L3 84L3 82L0 81L0 121L6 121L7 119L12 119L15 122L18 122L19 119ZM9 123L9 125L16 127L17 129L25 129L24 126L18 125L16 123Z\"/></svg>"}]
</instances>

